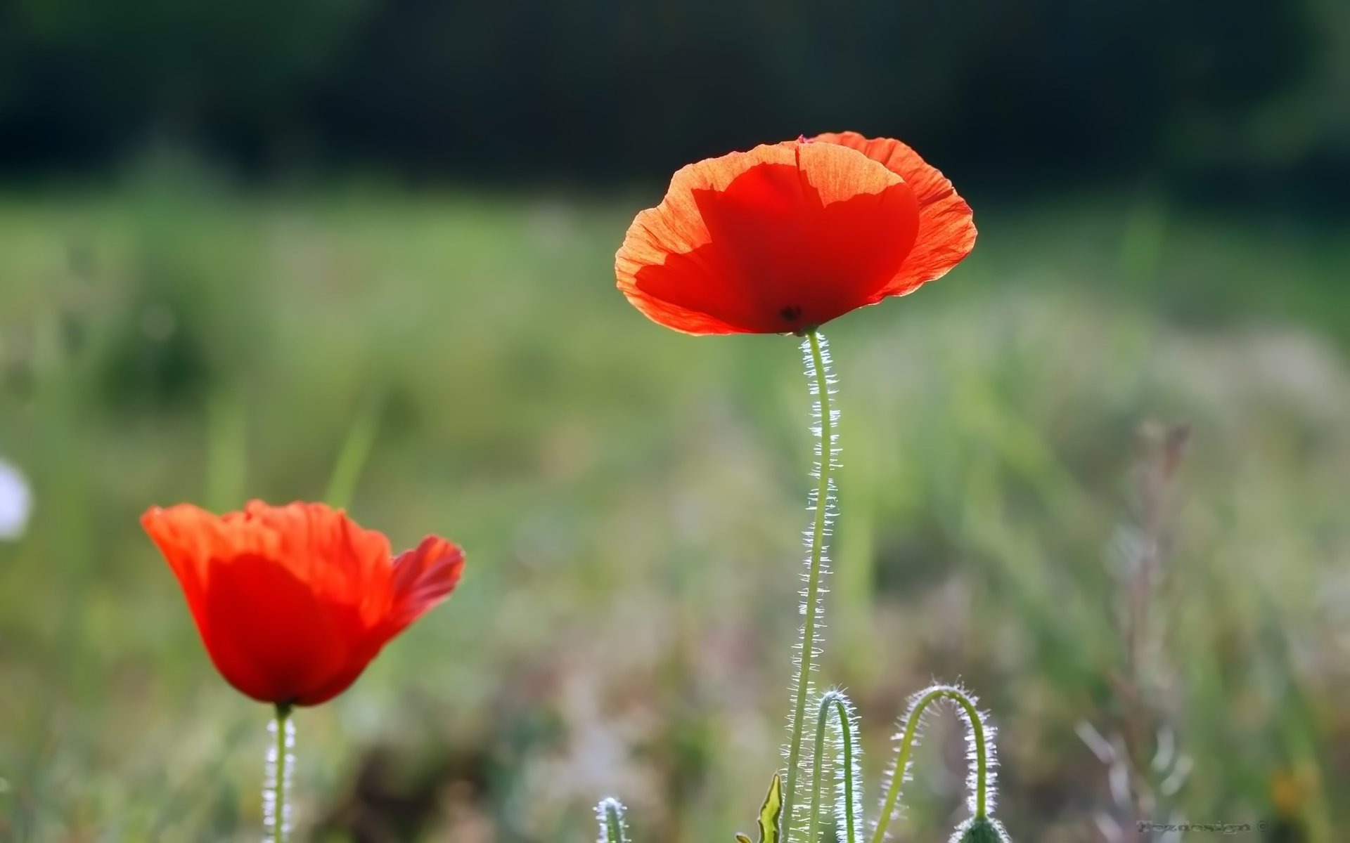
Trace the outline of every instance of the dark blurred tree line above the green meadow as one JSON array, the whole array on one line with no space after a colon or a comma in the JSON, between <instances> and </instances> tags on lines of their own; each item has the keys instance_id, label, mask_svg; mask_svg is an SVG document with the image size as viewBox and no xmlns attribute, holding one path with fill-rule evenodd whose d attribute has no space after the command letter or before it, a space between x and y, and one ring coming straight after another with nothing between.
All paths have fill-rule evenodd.
<instances>
[{"instance_id":1,"label":"dark blurred tree line above the green meadow","mask_svg":"<svg viewBox=\"0 0 1350 843\"><path fill-rule=\"evenodd\" d=\"M844 127L988 185L1328 194L1350 3L0 0L11 175L167 139L259 175L659 178Z\"/></svg>"}]
</instances>

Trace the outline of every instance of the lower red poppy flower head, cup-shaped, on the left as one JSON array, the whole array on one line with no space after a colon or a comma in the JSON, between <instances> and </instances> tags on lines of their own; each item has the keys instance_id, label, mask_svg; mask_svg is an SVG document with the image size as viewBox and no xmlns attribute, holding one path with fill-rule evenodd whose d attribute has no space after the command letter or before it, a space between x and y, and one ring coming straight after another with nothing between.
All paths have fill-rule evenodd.
<instances>
[{"instance_id":1,"label":"lower red poppy flower head, cup-shaped, on the left","mask_svg":"<svg viewBox=\"0 0 1350 843\"><path fill-rule=\"evenodd\" d=\"M240 692L317 705L444 599L464 554L429 535L390 558L389 540L321 503L212 515L192 504L140 517L178 576L216 669Z\"/></svg>"}]
</instances>

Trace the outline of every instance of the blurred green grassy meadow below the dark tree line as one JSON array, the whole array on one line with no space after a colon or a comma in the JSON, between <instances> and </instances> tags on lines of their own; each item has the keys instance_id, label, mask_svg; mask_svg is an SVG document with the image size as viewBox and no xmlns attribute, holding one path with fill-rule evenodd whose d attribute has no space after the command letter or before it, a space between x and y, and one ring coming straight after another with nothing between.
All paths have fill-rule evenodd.
<instances>
[{"instance_id":1,"label":"blurred green grassy meadow below the dark tree line","mask_svg":"<svg viewBox=\"0 0 1350 843\"><path fill-rule=\"evenodd\" d=\"M215 676L136 518L340 488L396 546L436 531L470 561L300 714L315 839L579 840L606 793L644 840L748 828L783 738L807 398L792 340L683 337L613 290L649 200L174 171L0 197L0 457L36 499L0 545L0 838L256 836L267 712ZM1177 808L1338 840L1345 225L1150 194L976 209L949 278L826 332L824 677L859 703L868 781L903 696L961 677L1002 727L1014 836L1094 839L1106 772L1073 730L1119 716L1107 548L1141 424L1187 422L1150 629L1195 759ZM929 742L902 839L953 824L960 751Z\"/></svg>"}]
</instances>

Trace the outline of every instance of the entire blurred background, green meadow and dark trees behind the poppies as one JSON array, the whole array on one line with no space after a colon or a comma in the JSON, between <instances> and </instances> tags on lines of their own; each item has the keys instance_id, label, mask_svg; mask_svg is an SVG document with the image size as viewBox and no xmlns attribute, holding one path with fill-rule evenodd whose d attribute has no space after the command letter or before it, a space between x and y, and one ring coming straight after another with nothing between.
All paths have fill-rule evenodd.
<instances>
[{"instance_id":1,"label":"entire blurred background, green meadow and dark trees behind the poppies","mask_svg":"<svg viewBox=\"0 0 1350 843\"><path fill-rule=\"evenodd\" d=\"M0 1L0 840L258 839L269 711L138 525L255 496L468 553L300 712L298 839L752 831L799 352L651 325L613 252L678 166L845 128L980 228L825 330L868 805L960 678L1017 840L1350 839L1347 103L1336 0ZM942 840L954 718L919 755Z\"/></svg>"}]
</instances>

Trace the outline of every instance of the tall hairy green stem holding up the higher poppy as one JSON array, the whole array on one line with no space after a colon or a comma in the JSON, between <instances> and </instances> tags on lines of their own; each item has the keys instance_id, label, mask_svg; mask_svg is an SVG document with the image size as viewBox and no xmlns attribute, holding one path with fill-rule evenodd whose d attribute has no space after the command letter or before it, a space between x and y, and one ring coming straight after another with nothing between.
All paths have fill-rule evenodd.
<instances>
[{"instance_id":1,"label":"tall hairy green stem holding up the higher poppy","mask_svg":"<svg viewBox=\"0 0 1350 843\"><path fill-rule=\"evenodd\" d=\"M796 669L796 703L792 709L792 740L787 753L787 786L783 788L783 840L792 838L792 809L796 801L799 763L802 758L802 726L806 720L806 696L810 691L811 660L815 656L815 620L819 611L821 566L825 556L826 510L830 500L830 468L834 463L834 418L830 410L830 378L828 357L821 347L824 337L811 330L802 344L809 355L809 374L814 376L811 391L818 397L819 426L819 483L815 488L815 521L811 525L810 560L806 572L806 592L803 610L806 620L802 624L802 654Z\"/></svg>"}]
</instances>

